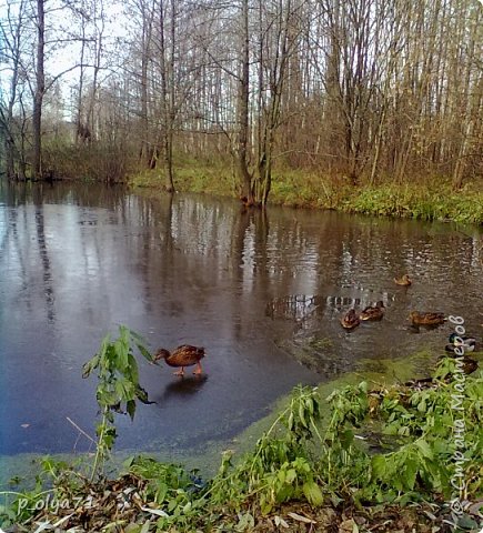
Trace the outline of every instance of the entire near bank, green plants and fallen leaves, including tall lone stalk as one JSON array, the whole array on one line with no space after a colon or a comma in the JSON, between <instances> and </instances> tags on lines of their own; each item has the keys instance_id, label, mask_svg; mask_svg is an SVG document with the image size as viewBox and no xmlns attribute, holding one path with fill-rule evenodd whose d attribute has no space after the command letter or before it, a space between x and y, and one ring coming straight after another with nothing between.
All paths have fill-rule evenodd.
<instances>
[{"instance_id":1,"label":"entire near bank, green plants and fallen leaves, including tall lone stalk","mask_svg":"<svg viewBox=\"0 0 483 533\"><path fill-rule=\"evenodd\" d=\"M254 449L237 461L224 452L209 481L145 456L131 457L108 480L99 457L113 444L112 411L123 406L133 416L135 401L148 400L134 348L151 360L142 340L121 328L84 366L85 375L98 370L93 465L46 457L33 489L3 493L3 530L435 533L482 526L482 371L465 375L457 359L443 359L432 380L361 382L329 398L298 386Z\"/></svg>"}]
</instances>

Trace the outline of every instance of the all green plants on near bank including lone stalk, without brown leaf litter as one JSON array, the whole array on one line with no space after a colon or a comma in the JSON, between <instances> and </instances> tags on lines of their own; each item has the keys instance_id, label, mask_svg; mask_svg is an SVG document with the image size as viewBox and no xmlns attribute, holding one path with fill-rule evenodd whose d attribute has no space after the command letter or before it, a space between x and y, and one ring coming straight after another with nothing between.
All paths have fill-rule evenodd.
<instances>
[{"instance_id":1,"label":"all green plants on near bank including lone stalk, without brown leaf litter","mask_svg":"<svg viewBox=\"0 0 483 533\"><path fill-rule=\"evenodd\" d=\"M91 480L112 449L113 413L133 416L135 401L148 401L139 385L134 349L151 361L139 335L121 326L119 338L107 336L84 365L85 376L98 373L102 412ZM254 450L238 462L227 451L208 483L179 465L141 456L130 460L125 475L134 486L123 493L135 491L140 512L150 516L148 521L138 516L132 531L209 531L213 524L220 531L246 531L255 516L298 501L314 507L328 499L371 505L443 502L454 496L456 472L467 494L483 493L481 371L466 376L454 359L446 358L439 362L431 386L348 385L325 399L330 409L324 418L322 401L316 388L295 388ZM455 432L461 424L464 434ZM457 461L464 469L457 471ZM9 493L13 502L0 509L0 526L29 523L47 493L72 500L82 486L88 487L85 494L97 486L50 459L42 462L42 472L32 491ZM26 499L29 505L20 503Z\"/></svg>"}]
</instances>

